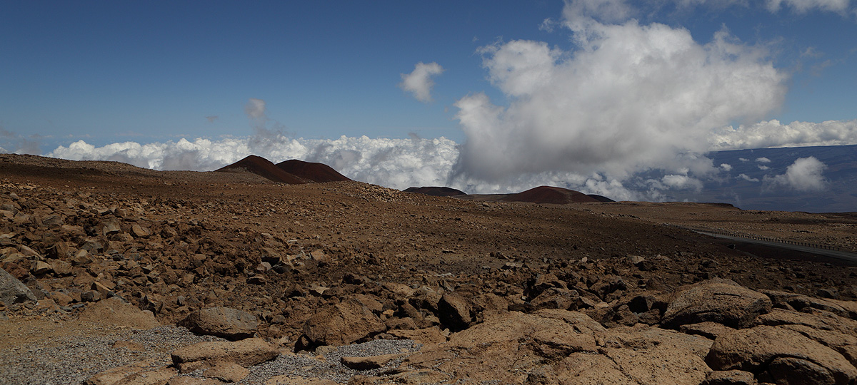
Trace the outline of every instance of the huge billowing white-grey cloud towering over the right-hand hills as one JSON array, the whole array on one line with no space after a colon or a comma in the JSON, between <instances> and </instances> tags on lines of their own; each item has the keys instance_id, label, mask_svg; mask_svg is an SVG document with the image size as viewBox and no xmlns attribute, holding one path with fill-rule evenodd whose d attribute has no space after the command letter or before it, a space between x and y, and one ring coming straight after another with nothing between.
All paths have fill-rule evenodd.
<instances>
[{"instance_id":1,"label":"huge billowing white-grey cloud towering over the right-hand hills","mask_svg":"<svg viewBox=\"0 0 857 385\"><path fill-rule=\"evenodd\" d=\"M624 3L566 3L574 50L513 40L483 47L488 78L506 95L456 102L466 135L456 175L500 181L549 171L623 181L675 172L677 154L708 151L710 130L782 104L787 74L726 31L709 43L662 24L620 21ZM712 167L712 169L714 169Z\"/></svg>"}]
</instances>

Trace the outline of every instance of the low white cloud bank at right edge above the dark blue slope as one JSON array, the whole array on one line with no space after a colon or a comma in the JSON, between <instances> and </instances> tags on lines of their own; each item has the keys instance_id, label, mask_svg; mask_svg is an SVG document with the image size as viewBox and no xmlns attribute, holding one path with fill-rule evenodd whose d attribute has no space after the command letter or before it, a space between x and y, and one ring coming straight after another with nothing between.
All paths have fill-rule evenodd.
<instances>
[{"instance_id":1,"label":"low white cloud bank at right edge above the dark blue slope","mask_svg":"<svg viewBox=\"0 0 857 385\"><path fill-rule=\"evenodd\" d=\"M738 128L719 127L709 135L711 151L806 145L857 145L857 119L812 123L760 121Z\"/></svg>"}]
</instances>

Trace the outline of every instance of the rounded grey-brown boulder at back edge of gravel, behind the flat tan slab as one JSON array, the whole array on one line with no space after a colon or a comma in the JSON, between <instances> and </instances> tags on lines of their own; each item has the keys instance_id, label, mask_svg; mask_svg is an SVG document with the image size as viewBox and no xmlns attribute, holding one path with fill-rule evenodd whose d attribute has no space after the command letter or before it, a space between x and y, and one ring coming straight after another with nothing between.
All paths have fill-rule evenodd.
<instances>
[{"instance_id":1,"label":"rounded grey-brown boulder at back edge of gravel, behind the flat tan slab","mask_svg":"<svg viewBox=\"0 0 857 385\"><path fill-rule=\"evenodd\" d=\"M259 319L247 311L231 307L210 307L191 312L178 323L201 335L217 335L230 340L252 337Z\"/></svg>"}]
</instances>

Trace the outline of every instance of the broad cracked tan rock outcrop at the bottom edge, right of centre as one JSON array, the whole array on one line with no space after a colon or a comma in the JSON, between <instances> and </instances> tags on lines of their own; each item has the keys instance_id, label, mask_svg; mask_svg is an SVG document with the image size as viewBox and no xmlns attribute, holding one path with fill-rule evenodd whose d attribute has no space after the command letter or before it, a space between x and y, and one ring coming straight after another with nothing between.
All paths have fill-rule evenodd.
<instances>
[{"instance_id":1,"label":"broad cracked tan rock outcrop at the bottom edge, right of centre","mask_svg":"<svg viewBox=\"0 0 857 385\"><path fill-rule=\"evenodd\" d=\"M703 359L710 344L647 325L604 329L578 311L510 311L423 347L405 358L396 379L698 385L710 372Z\"/></svg>"}]
</instances>

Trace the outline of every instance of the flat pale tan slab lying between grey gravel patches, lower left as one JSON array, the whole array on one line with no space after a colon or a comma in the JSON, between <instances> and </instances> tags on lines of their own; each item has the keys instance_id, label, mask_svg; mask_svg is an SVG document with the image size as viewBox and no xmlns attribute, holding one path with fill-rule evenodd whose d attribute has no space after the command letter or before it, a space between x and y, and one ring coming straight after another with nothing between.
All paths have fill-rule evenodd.
<instances>
[{"instance_id":1,"label":"flat pale tan slab lying between grey gravel patches, lower left","mask_svg":"<svg viewBox=\"0 0 857 385\"><path fill-rule=\"evenodd\" d=\"M172 363L182 373L211 368L229 363L243 367L261 364L279 356L279 348L261 338L248 338L242 341L200 342L189 347L181 347L171 353Z\"/></svg>"}]
</instances>

